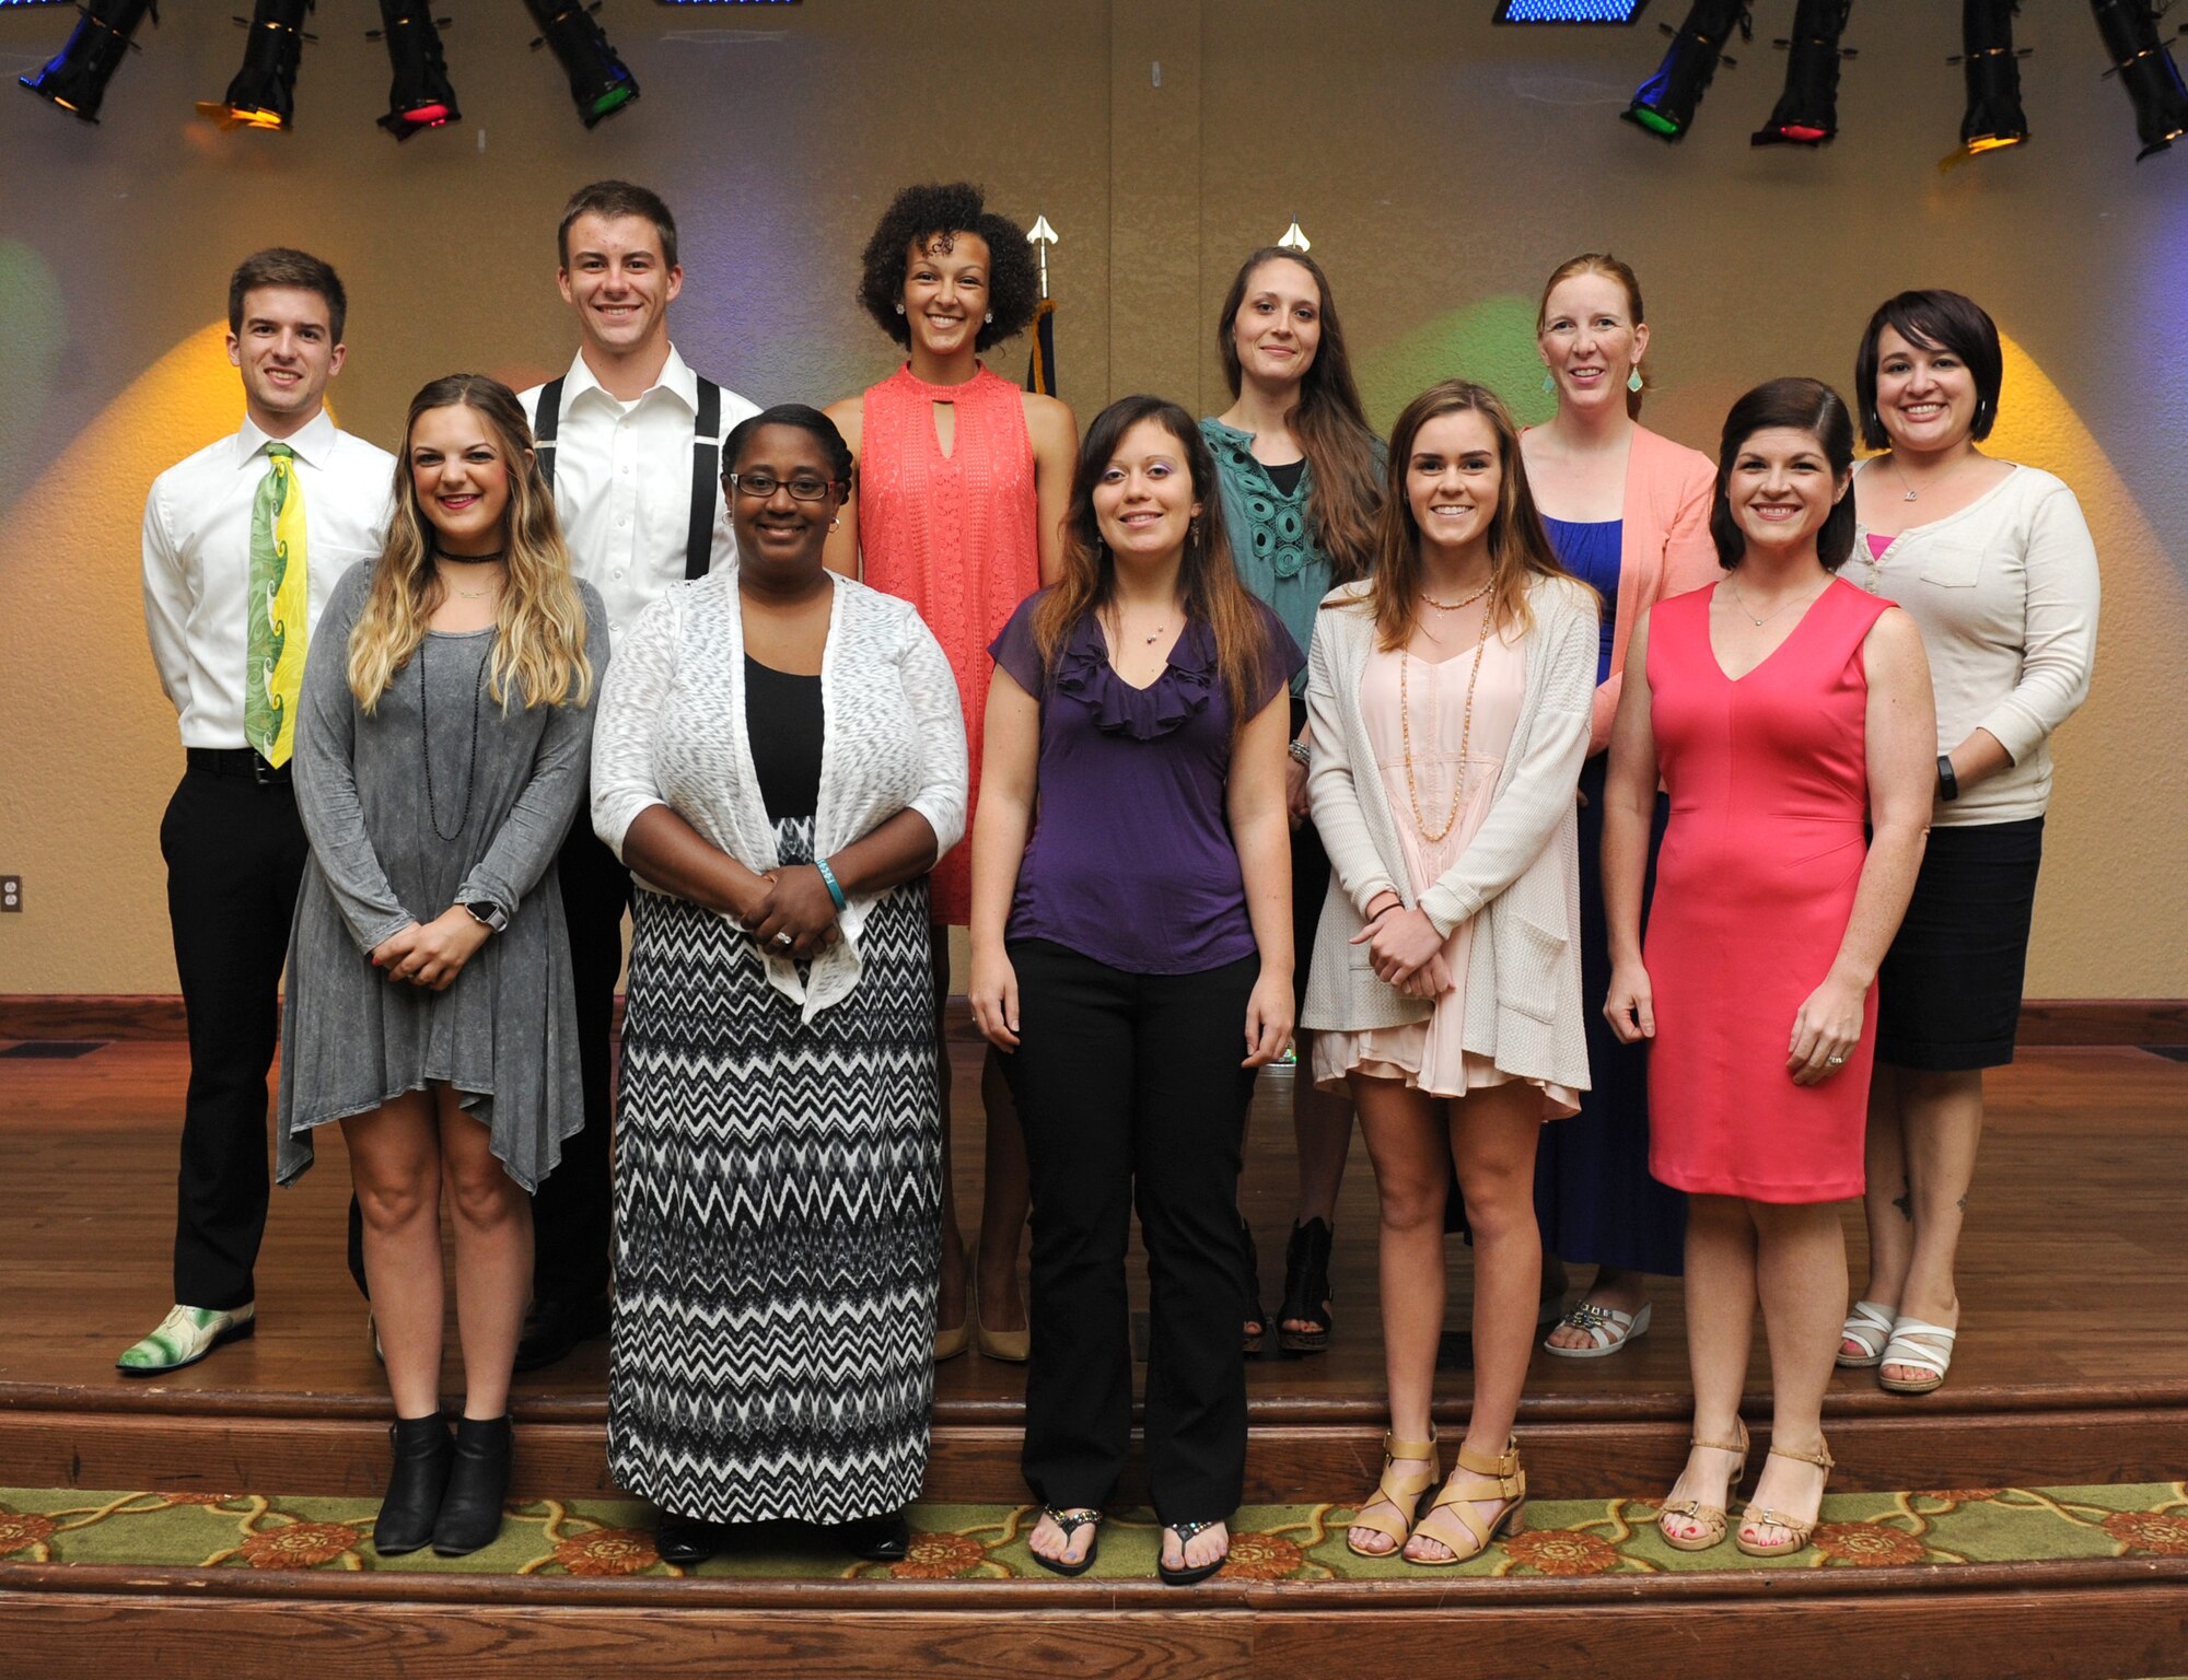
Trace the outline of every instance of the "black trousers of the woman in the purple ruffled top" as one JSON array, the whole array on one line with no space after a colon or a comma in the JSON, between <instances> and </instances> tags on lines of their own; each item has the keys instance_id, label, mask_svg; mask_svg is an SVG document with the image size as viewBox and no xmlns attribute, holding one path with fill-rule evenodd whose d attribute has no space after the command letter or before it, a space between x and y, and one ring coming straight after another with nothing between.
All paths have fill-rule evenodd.
<instances>
[{"instance_id":1,"label":"black trousers of the woman in the purple ruffled top","mask_svg":"<svg viewBox=\"0 0 2188 1680\"><path fill-rule=\"evenodd\" d=\"M1026 1483L1101 1505L1131 1442L1131 1214L1147 1242L1147 1479L1162 1520L1227 1518L1245 1488L1238 1164L1256 958L1125 973L1013 941L1020 1048L1004 1057L1033 1179Z\"/></svg>"}]
</instances>

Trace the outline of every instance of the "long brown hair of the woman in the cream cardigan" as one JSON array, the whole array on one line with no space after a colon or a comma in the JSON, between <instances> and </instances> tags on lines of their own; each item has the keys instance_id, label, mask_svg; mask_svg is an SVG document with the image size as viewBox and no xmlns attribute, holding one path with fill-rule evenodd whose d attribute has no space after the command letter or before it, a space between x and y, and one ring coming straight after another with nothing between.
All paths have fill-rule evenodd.
<instances>
[{"instance_id":1,"label":"long brown hair of the woman in the cream cardigan","mask_svg":"<svg viewBox=\"0 0 2188 1680\"><path fill-rule=\"evenodd\" d=\"M1518 453L1518 427L1512 424L1510 411L1488 385L1446 378L1407 402L1389 433L1389 483L1383 494L1383 532L1370 586L1376 641L1385 650L1405 648L1420 619L1420 525L1413 521L1405 479L1413 466L1413 440L1420 438L1420 429L1446 413L1479 413L1497 433L1501 483L1488 536L1492 621L1499 628L1534 628L1534 612L1527 610L1529 580L1567 575L1549 547L1543 516L1534 510L1527 466Z\"/></svg>"}]
</instances>

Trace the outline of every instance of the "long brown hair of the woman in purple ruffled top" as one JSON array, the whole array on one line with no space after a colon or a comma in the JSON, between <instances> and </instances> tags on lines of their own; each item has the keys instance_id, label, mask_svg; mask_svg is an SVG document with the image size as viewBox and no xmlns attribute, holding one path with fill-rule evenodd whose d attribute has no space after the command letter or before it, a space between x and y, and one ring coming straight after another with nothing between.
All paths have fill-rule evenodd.
<instances>
[{"instance_id":1,"label":"long brown hair of the woman in purple ruffled top","mask_svg":"<svg viewBox=\"0 0 2188 1680\"><path fill-rule=\"evenodd\" d=\"M1199 619L1214 634L1217 672L1223 676L1236 731L1260 707L1276 654L1269 648L1267 619L1232 564L1217 457L1201 429L1192 424L1192 416L1160 396L1122 396L1087 427L1085 442L1079 444L1079 470L1072 472L1072 503L1063 514L1063 575L1035 608L1033 645L1041 652L1041 667L1055 672L1057 654L1079 621L1116 597L1116 560L1094 521L1094 486L1101 483L1125 433L1142 420L1153 420L1177 440L1177 451L1192 475L1192 497L1201 503L1199 534L1186 538L1184 564L1177 571L1177 597L1184 602L1186 619Z\"/></svg>"}]
</instances>

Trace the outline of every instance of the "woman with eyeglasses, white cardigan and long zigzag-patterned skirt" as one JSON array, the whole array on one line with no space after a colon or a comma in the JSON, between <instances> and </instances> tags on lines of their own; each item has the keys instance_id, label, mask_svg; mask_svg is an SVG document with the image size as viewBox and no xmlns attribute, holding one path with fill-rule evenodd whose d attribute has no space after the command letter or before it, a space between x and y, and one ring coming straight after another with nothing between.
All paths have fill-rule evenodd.
<instances>
[{"instance_id":1,"label":"woman with eyeglasses, white cardigan and long zigzag-patterned skirt","mask_svg":"<svg viewBox=\"0 0 2188 1680\"><path fill-rule=\"evenodd\" d=\"M926 875L965 722L919 615L823 567L834 422L766 409L724 459L737 567L639 617L593 750L637 877L608 1468L670 1562L768 1518L901 1558L941 1218Z\"/></svg>"}]
</instances>

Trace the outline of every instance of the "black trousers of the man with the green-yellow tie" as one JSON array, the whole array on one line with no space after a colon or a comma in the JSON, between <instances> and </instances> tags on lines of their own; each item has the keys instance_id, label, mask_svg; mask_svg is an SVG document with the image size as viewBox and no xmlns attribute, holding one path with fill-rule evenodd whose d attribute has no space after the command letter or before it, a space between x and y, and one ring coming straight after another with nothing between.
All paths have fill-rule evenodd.
<instances>
[{"instance_id":1,"label":"black trousers of the man with the green-yellow tie","mask_svg":"<svg viewBox=\"0 0 2188 1680\"><path fill-rule=\"evenodd\" d=\"M160 855L190 1028L175 1299L225 1312L256 1299L267 1227L267 1070L306 855L295 796L287 781L184 770Z\"/></svg>"}]
</instances>

